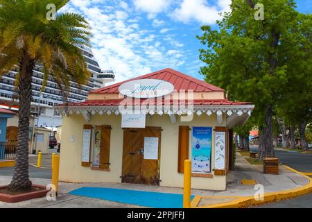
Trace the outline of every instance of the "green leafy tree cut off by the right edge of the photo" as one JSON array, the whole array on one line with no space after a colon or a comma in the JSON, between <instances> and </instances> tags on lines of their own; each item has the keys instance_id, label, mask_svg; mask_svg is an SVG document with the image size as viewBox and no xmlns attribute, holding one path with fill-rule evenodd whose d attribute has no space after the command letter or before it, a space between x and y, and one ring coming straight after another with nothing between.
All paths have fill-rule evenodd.
<instances>
[{"instance_id":1,"label":"green leafy tree cut off by the right edge of the photo","mask_svg":"<svg viewBox=\"0 0 312 222\"><path fill-rule=\"evenodd\" d=\"M298 126L300 144L308 148L306 125L312 121L312 15L298 15L282 58L287 60L287 87L278 101L278 113L290 126ZM292 130L291 130L292 131Z\"/></svg>"}]
</instances>

